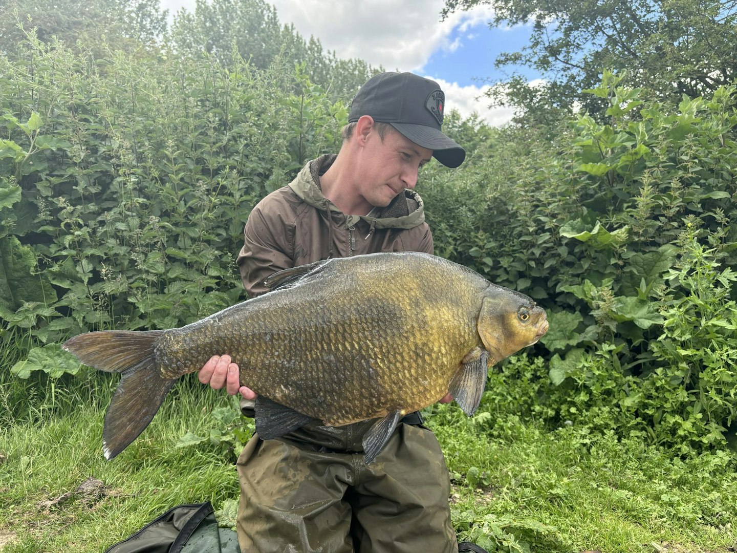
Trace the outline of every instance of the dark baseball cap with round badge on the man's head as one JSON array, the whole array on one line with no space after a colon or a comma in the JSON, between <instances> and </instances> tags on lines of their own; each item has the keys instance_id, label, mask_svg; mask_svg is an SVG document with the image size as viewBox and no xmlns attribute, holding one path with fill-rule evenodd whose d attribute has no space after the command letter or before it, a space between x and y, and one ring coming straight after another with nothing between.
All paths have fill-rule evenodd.
<instances>
[{"instance_id":1,"label":"dark baseball cap with round badge on the man's head","mask_svg":"<svg viewBox=\"0 0 737 553\"><path fill-rule=\"evenodd\" d=\"M386 72L371 77L351 102L348 122L370 115L389 123L416 145L433 150L446 167L458 167L466 150L440 131L445 94L434 80L413 73Z\"/></svg>"}]
</instances>

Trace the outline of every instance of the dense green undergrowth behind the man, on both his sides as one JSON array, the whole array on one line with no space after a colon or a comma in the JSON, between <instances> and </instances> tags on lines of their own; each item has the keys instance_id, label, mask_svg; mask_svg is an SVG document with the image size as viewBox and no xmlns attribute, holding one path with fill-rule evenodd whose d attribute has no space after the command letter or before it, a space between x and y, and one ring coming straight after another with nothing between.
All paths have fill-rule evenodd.
<instances>
[{"instance_id":1,"label":"dense green undergrowth behind the man, on both his sides","mask_svg":"<svg viewBox=\"0 0 737 553\"><path fill-rule=\"evenodd\" d=\"M86 330L177 327L243 299L234 257L248 212L339 147L346 104L304 65L106 51L31 36L18 60L0 60L0 319L4 343L22 334L24 351ZM606 124L572 117L553 143L448 114L469 156L422 172L436 253L548 310L539 405L520 409L682 451L723 445L737 89L676 109L620 80L604 72L590 91Z\"/></svg>"}]
</instances>

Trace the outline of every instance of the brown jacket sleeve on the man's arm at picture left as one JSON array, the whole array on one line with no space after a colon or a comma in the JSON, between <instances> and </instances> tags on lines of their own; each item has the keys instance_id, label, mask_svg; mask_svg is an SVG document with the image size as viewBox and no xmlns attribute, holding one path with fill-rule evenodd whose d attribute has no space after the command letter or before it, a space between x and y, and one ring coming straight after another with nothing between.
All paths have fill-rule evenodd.
<instances>
[{"instance_id":1,"label":"brown jacket sleeve on the man's arm at picture left","mask_svg":"<svg viewBox=\"0 0 737 553\"><path fill-rule=\"evenodd\" d=\"M238 254L240 278L248 296L268 292L264 279L294 266L292 240L293 226L287 224L276 212L256 205L243 231L243 247Z\"/></svg>"}]
</instances>

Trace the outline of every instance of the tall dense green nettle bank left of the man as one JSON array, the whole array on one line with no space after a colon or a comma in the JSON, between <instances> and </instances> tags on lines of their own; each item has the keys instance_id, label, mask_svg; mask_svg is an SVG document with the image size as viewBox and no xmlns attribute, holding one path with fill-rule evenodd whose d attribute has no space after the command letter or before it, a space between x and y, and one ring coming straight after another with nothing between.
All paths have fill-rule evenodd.
<instances>
[{"instance_id":1,"label":"tall dense green nettle bank left of the man","mask_svg":"<svg viewBox=\"0 0 737 553\"><path fill-rule=\"evenodd\" d=\"M116 52L88 66L61 45L24 48L0 60L6 327L45 344L177 327L243 299L248 212L335 150L345 104L280 60L260 71Z\"/></svg>"}]
</instances>

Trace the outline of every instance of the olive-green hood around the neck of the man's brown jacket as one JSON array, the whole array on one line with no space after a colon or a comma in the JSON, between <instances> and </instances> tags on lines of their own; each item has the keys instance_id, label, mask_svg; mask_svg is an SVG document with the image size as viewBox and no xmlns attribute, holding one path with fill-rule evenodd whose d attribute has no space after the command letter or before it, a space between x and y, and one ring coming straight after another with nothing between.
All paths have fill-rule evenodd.
<instances>
[{"instance_id":1,"label":"olive-green hood around the neck of the man's brown jacket","mask_svg":"<svg viewBox=\"0 0 737 553\"><path fill-rule=\"evenodd\" d=\"M329 201L320 188L320 175L332 165L335 154L325 154L307 162L289 187L304 201L305 204L326 211L338 212L346 218L347 225L354 225L358 220L364 220L376 229L412 229L425 222L425 204L417 192L405 189L397 195L386 207L371 210L371 215L345 215Z\"/></svg>"}]
</instances>

